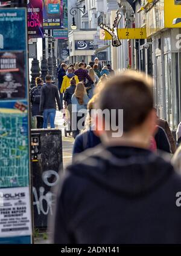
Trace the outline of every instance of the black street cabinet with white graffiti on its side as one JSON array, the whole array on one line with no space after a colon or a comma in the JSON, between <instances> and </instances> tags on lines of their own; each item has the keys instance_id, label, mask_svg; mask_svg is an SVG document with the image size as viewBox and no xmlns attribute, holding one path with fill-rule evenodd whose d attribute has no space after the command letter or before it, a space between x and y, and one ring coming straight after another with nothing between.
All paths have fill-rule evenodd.
<instances>
[{"instance_id":1,"label":"black street cabinet with white graffiti on its side","mask_svg":"<svg viewBox=\"0 0 181 256\"><path fill-rule=\"evenodd\" d=\"M47 227L56 195L52 191L59 183L63 167L61 130L31 130L31 168L33 175L34 226Z\"/></svg>"}]
</instances>

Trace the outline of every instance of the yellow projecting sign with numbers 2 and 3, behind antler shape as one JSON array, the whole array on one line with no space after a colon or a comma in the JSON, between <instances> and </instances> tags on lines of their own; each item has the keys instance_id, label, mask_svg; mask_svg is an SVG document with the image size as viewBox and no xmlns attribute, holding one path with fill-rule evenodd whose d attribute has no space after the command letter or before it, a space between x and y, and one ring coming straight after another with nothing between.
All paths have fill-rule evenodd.
<instances>
[{"instance_id":1,"label":"yellow projecting sign with numbers 2 and 3, behind antler shape","mask_svg":"<svg viewBox=\"0 0 181 256\"><path fill-rule=\"evenodd\" d=\"M107 31L100 31L100 38L104 40L111 40L112 36ZM142 29L118 29L119 39L146 39L147 30Z\"/></svg>"}]
</instances>

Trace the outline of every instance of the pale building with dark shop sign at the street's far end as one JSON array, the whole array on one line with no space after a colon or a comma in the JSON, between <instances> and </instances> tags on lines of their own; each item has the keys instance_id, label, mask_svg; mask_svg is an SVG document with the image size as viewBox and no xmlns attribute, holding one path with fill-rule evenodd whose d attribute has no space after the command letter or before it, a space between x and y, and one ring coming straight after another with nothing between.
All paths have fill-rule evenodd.
<instances>
[{"instance_id":1,"label":"pale building with dark shop sign at the street's far end","mask_svg":"<svg viewBox=\"0 0 181 256\"><path fill-rule=\"evenodd\" d=\"M83 13L81 10L84 6ZM110 19L110 15L107 15L107 0L77 0L72 7L78 7L74 15L77 29L69 30L69 62L84 60L88 64L98 57L106 63L110 60L110 42L99 39L99 25ZM72 18L70 16L69 19Z\"/></svg>"}]
</instances>

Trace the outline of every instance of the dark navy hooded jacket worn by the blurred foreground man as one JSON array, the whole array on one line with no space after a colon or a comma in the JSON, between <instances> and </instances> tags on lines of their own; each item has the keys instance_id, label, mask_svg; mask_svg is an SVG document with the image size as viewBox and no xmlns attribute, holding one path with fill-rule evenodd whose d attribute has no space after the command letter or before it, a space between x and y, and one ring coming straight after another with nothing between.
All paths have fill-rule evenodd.
<instances>
[{"instance_id":1,"label":"dark navy hooded jacket worn by the blurred foreground man","mask_svg":"<svg viewBox=\"0 0 181 256\"><path fill-rule=\"evenodd\" d=\"M154 153L98 146L78 155L66 173L54 243L181 243L181 178Z\"/></svg>"}]
</instances>

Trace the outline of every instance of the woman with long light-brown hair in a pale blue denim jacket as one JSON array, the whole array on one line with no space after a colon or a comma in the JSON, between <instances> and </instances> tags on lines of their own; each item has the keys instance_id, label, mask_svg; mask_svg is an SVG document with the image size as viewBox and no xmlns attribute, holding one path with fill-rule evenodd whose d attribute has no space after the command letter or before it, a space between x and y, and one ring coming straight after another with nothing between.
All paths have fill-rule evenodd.
<instances>
[{"instance_id":1,"label":"woman with long light-brown hair in a pale blue denim jacket","mask_svg":"<svg viewBox=\"0 0 181 256\"><path fill-rule=\"evenodd\" d=\"M75 93L72 95L72 135L74 139L84 128L88 102L89 97L83 83L78 83ZM81 122L81 120L83 121Z\"/></svg>"}]
</instances>

